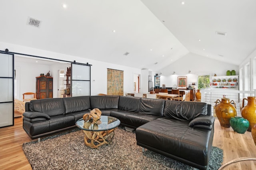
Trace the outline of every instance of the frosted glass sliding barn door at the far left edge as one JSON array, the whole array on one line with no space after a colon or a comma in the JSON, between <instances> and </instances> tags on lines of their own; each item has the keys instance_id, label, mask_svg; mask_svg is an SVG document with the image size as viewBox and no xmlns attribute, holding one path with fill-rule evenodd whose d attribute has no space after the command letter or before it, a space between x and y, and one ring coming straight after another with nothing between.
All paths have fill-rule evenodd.
<instances>
[{"instance_id":1,"label":"frosted glass sliding barn door at the far left edge","mask_svg":"<svg viewBox=\"0 0 256 170\"><path fill-rule=\"evenodd\" d=\"M0 53L0 127L14 125L14 55Z\"/></svg>"}]
</instances>

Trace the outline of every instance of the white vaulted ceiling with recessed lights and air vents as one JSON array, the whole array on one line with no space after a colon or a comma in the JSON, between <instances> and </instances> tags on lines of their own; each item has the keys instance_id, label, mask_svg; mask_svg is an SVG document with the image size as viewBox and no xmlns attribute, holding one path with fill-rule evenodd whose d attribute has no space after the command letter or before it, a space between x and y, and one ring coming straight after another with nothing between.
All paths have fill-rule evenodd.
<instances>
[{"instance_id":1,"label":"white vaulted ceiling with recessed lights and air vents","mask_svg":"<svg viewBox=\"0 0 256 170\"><path fill-rule=\"evenodd\" d=\"M2 0L0 41L153 71L188 53L238 65L256 49L255 6L254 0Z\"/></svg>"}]
</instances>

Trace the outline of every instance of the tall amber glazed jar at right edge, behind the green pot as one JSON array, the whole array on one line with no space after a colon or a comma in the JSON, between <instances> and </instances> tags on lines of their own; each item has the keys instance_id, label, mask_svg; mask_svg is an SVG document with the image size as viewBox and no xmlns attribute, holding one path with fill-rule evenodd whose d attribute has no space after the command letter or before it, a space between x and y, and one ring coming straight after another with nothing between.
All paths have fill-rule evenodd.
<instances>
[{"instance_id":1,"label":"tall amber glazed jar at right edge, behind the green pot","mask_svg":"<svg viewBox=\"0 0 256 170\"><path fill-rule=\"evenodd\" d=\"M247 106L244 106L244 100L248 101ZM252 127L256 124L256 97L248 96L243 99L241 114L242 117L250 122L250 127L247 131L252 131Z\"/></svg>"}]
</instances>

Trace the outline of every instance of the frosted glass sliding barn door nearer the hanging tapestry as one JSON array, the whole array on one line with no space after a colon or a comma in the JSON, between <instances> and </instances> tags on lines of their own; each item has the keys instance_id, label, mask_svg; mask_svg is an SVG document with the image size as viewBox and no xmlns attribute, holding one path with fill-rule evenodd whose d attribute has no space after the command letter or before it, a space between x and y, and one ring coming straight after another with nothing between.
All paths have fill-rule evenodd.
<instances>
[{"instance_id":1,"label":"frosted glass sliding barn door nearer the hanging tapestry","mask_svg":"<svg viewBox=\"0 0 256 170\"><path fill-rule=\"evenodd\" d=\"M91 95L91 66L82 64L71 64L71 95Z\"/></svg>"}]
</instances>

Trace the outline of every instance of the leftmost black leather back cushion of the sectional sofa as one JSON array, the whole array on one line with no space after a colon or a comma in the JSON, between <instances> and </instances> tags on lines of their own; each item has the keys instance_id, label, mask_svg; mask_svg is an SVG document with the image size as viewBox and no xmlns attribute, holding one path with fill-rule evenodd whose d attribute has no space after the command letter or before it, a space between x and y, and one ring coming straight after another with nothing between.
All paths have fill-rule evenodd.
<instances>
[{"instance_id":1,"label":"leftmost black leather back cushion of the sectional sofa","mask_svg":"<svg viewBox=\"0 0 256 170\"><path fill-rule=\"evenodd\" d=\"M31 111L43 112L49 116L62 115L65 113L62 98L31 100L29 108Z\"/></svg>"}]
</instances>

